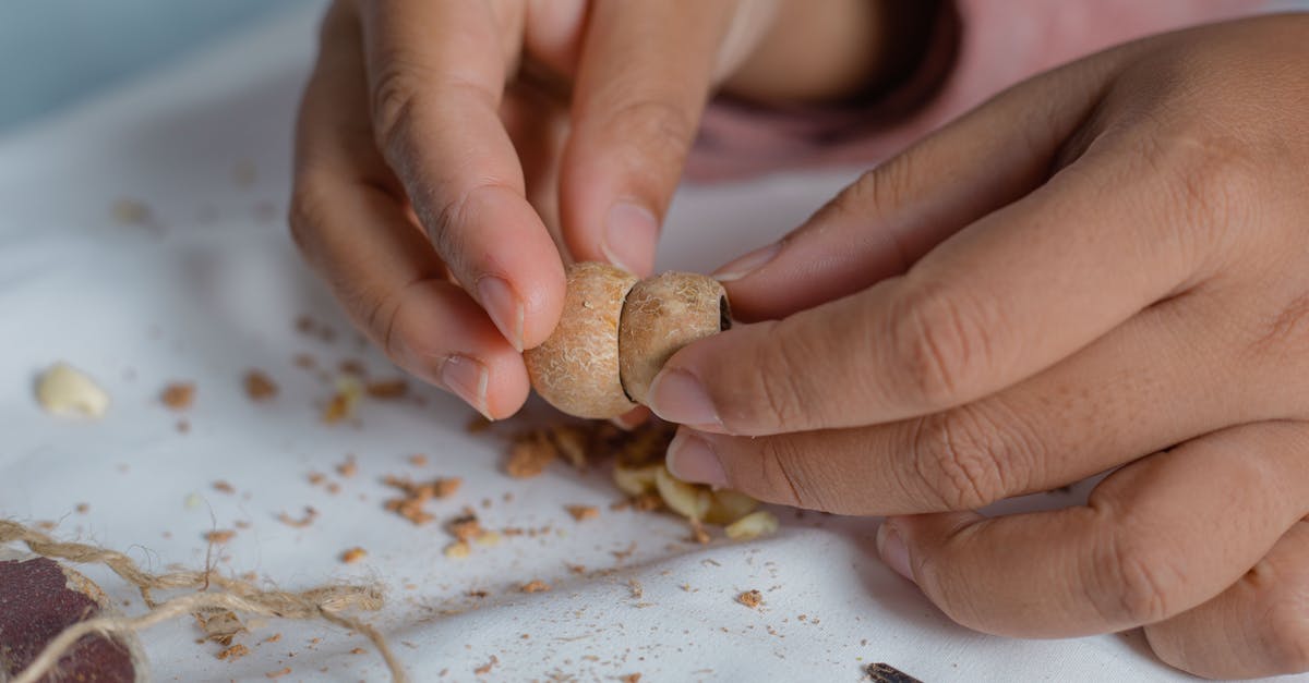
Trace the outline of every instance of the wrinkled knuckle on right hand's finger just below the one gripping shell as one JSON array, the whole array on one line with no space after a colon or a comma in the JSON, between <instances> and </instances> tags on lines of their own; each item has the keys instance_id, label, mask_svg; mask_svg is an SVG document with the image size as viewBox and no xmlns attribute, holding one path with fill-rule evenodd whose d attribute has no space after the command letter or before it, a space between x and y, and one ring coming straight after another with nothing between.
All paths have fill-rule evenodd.
<instances>
[{"instance_id":1,"label":"wrinkled knuckle on right hand's finger just below the one gripping shell","mask_svg":"<svg viewBox=\"0 0 1309 683\"><path fill-rule=\"evenodd\" d=\"M916 475L942 509L973 510L1008 495L1004 454L973 411L939 412L914 427L910 449Z\"/></svg>"}]
</instances>

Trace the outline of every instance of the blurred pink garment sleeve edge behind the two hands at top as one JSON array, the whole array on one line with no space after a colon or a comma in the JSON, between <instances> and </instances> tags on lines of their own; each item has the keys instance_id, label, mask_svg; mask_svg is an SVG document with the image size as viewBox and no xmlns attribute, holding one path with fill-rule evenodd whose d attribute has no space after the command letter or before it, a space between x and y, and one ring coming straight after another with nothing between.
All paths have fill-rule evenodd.
<instances>
[{"instance_id":1,"label":"blurred pink garment sleeve edge behind the two hands at top","mask_svg":"<svg viewBox=\"0 0 1309 683\"><path fill-rule=\"evenodd\" d=\"M1264 9L1264 0L953 0L918 72L864 106L772 109L720 97L687 162L694 181L789 166L872 165L1042 71L1106 47Z\"/></svg>"}]
</instances>

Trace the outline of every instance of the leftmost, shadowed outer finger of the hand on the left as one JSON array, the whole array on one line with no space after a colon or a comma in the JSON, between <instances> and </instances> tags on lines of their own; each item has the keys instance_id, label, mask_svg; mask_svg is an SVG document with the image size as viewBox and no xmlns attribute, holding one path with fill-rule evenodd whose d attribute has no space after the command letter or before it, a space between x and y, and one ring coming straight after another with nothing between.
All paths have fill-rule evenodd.
<instances>
[{"instance_id":1,"label":"leftmost, shadowed outer finger of the hand on the left","mask_svg":"<svg viewBox=\"0 0 1309 683\"><path fill-rule=\"evenodd\" d=\"M357 20L344 5L323 22L296 140L292 234L351 319L397 364L488 417L526 400L522 357L467 294L397 196L372 141Z\"/></svg>"}]
</instances>

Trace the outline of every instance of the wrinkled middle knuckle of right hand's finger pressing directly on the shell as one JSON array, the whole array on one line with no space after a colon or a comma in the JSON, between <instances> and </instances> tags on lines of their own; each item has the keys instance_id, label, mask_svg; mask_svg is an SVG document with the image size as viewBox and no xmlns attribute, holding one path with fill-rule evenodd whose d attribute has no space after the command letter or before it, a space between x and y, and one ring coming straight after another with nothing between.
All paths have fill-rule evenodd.
<instances>
[{"instance_id":1,"label":"wrinkled middle knuckle of right hand's finger pressing directly on the shell","mask_svg":"<svg viewBox=\"0 0 1309 683\"><path fill-rule=\"evenodd\" d=\"M988 327L979 307L937 285L910 290L891 313L893 368L899 368L902 395L923 408L944 408L974 391L971 373L990 356Z\"/></svg>"}]
</instances>

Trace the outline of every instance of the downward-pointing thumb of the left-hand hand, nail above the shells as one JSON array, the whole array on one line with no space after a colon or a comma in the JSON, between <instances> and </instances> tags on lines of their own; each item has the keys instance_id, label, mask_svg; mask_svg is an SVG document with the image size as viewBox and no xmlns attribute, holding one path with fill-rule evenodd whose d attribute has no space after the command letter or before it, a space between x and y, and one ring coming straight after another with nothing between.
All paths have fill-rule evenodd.
<instances>
[{"instance_id":1,"label":"downward-pointing thumb of the left-hand hand, nail above the shells","mask_svg":"<svg viewBox=\"0 0 1309 683\"><path fill-rule=\"evenodd\" d=\"M649 275L736 3L594 3L564 152L564 238L579 260Z\"/></svg>"}]
</instances>

